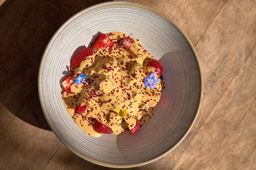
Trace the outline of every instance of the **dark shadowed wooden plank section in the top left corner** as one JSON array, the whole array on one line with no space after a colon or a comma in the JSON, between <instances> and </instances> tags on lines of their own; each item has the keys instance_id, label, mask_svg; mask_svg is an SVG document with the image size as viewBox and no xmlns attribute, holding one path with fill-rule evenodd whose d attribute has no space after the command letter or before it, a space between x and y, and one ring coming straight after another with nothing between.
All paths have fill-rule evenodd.
<instances>
[{"instance_id":1,"label":"dark shadowed wooden plank section in the top left corner","mask_svg":"<svg viewBox=\"0 0 256 170\"><path fill-rule=\"evenodd\" d=\"M0 17L0 75L58 0L12 0ZM8 1L5 3L7 4ZM19 8L17 8L19 6Z\"/></svg>"}]
</instances>

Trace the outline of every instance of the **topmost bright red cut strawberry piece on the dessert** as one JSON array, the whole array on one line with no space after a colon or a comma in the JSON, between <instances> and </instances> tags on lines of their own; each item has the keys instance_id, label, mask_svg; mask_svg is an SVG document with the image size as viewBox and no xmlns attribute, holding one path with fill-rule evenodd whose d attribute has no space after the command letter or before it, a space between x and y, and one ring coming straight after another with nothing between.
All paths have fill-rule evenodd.
<instances>
[{"instance_id":1,"label":"topmost bright red cut strawberry piece on the dessert","mask_svg":"<svg viewBox=\"0 0 256 170\"><path fill-rule=\"evenodd\" d=\"M93 42L93 45L91 47L92 50L96 50L102 47L112 47L113 42L108 38L106 34L99 34L98 37L96 37L95 41Z\"/></svg>"}]
</instances>

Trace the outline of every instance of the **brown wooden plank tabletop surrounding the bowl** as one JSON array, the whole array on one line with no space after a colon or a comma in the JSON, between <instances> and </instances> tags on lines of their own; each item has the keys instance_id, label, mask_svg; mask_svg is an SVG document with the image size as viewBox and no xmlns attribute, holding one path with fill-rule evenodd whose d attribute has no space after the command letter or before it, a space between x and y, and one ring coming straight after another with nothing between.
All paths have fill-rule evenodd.
<instances>
[{"instance_id":1,"label":"brown wooden plank tabletop surrounding the bowl","mask_svg":"<svg viewBox=\"0 0 256 170\"><path fill-rule=\"evenodd\" d=\"M49 129L38 67L54 32L104 0L0 0L0 169L111 168L76 156ZM185 31L204 77L201 112L186 139L136 170L256 169L256 0L135 0Z\"/></svg>"}]
</instances>

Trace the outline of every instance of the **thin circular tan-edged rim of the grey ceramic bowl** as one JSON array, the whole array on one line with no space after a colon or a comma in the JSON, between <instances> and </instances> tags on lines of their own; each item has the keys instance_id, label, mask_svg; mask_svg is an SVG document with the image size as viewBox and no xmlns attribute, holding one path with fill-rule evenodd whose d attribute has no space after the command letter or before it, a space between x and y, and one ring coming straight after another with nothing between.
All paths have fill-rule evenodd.
<instances>
[{"instance_id":1,"label":"thin circular tan-edged rim of the grey ceramic bowl","mask_svg":"<svg viewBox=\"0 0 256 170\"><path fill-rule=\"evenodd\" d=\"M87 13L89 11L93 11L96 10L98 8L102 8L102 7L106 7L106 6L116 6L116 5L124 5L124 6L136 6L136 7L140 7L140 8L144 8L148 11L154 12L158 15L160 15L161 17L163 17L164 19L168 20L179 32L180 34L186 39L187 43L189 44L190 48L192 49L196 62L198 64L198 70L200 73L200 79L201 79L201 94L200 94L200 99L198 101L198 109L195 113L195 117L189 127L189 129L186 131L186 133L181 137L181 139L174 145L172 146L169 150L167 150L166 152L160 154L159 156L155 157L154 159L148 160L148 161L144 161L144 162L140 162L137 164L113 164L113 163L108 163L108 162L104 162L104 161L99 161L97 159L93 159L90 156L85 155L84 153L81 153L79 150L74 149L73 147L71 147L71 145L64 139L61 137L61 135L58 133L58 130L55 128L55 126L51 123L51 120L49 118L49 113L47 111L47 108L44 104L44 96L43 96L43 89L42 89L42 75L43 75L43 68L44 68L44 62L46 60L47 54L49 52L49 48L52 45L53 40L55 40L55 38L58 36L58 34L61 32L61 30L67 26L67 24L69 24L73 19L75 19L76 17L79 17L81 14ZM187 35L182 31L182 29L172 20L170 19L167 15L163 14L162 12L143 5L141 3L134 3L134 2L130 2L130 1L111 1L111 2L104 2L104 3L99 3L93 6L90 6L88 8L85 8L84 10L78 12L77 14L73 15L73 17L71 17L69 20L67 20L56 32L55 34L52 36L51 40L48 42L47 44L47 48L44 50L44 54L42 56L41 59L41 63L40 63L40 68L39 68L39 72L38 72L38 93L39 93L39 99L40 99L40 103L41 103L41 107L44 113L44 116L46 118L46 121L49 125L49 127L52 129L52 131L55 133L55 135L58 137L58 139L68 148L70 149L73 153L75 153L77 156L90 161L94 164L98 164L101 166L105 166L105 167L113 167L113 168L130 168L130 167L138 167L138 166L142 166L145 164L149 164L153 161L156 161L157 159L162 158L163 156L165 156L167 153L171 152L175 147L177 147L182 141L183 139L188 135L189 131L191 130L192 126L195 123L195 120L198 117L200 108L201 108L201 103L202 103L202 97L203 97L203 77L202 77L202 71L201 71L201 67L199 64L199 59L198 59L198 54L195 51L195 47L193 46L192 42L189 40L189 37L187 37Z\"/></svg>"}]
</instances>

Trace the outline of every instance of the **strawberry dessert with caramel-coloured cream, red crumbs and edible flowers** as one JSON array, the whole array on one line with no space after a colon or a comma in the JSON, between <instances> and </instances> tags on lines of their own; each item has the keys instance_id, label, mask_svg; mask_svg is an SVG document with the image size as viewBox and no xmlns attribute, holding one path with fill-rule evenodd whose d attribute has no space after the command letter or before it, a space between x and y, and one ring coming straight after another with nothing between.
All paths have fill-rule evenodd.
<instances>
[{"instance_id":1,"label":"strawberry dessert with caramel-coloured cream, red crumbs and edible flowers","mask_svg":"<svg viewBox=\"0 0 256 170\"><path fill-rule=\"evenodd\" d=\"M163 69L139 40L121 32L94 36L61 83L64 105L91 136L135 134L153 116L165 87Z\"/></svg>"}]
</instances>

